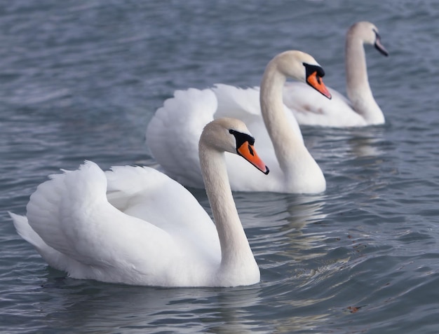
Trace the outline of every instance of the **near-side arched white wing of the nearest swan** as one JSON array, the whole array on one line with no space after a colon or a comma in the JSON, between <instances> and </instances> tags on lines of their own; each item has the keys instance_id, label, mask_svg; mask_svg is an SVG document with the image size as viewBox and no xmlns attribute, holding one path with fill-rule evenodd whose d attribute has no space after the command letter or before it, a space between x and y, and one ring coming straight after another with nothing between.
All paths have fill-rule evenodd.
<instances>
[{"instance_id":1,"label":"near-side arched white wing of the nearest swan","mask_svg":"<svg viewBox=\"0 0 439 334\"><path fill-rule=\"evenodd\" d=\"M81 264L61 269L73 277L119 281L119 275L135 277L124 272L160 272L168 260L187 256L174 235L116 209L106 190L104 172L87 162L79 170L52 176L31 196L29 225L46 244ZM112 267L117 270L105 271ZM101 271L115 277L100 277Z\"/></svg>"}]
</instances>

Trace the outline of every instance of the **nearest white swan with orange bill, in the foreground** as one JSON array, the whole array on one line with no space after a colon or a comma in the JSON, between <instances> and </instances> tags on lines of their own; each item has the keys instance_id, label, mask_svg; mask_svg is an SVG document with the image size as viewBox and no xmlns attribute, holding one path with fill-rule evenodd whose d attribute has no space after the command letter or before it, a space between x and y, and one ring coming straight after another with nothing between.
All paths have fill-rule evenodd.
<instances>
[{"instance_id":1,"label":"nearest white swan with orange bill, in the foreground","mask_svg":"<svg viewBox=\"0 0 439 334\"><path fill-rule=\"evenodd\" d=\"M177 140L177 139L176 139ZM30 197L18 234L76 279L149 286L238 286L259 281L227 179L224 151L268 174L244 123L205 126L200 160L215 225L177 182L149 167L93 162L50 176ZM254 167L253 167L254 168Z\"/></svg>"}]
</instances>

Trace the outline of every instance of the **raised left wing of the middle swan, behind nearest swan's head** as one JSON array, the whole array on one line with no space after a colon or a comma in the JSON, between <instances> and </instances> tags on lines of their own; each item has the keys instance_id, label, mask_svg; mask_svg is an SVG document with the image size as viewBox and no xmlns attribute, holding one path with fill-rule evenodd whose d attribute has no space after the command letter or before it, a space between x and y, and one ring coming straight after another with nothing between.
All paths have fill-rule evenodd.
<instances>
[{"instance_id":1,"label":"raised left wing of the middle swan, behind nearest swan's head","mask_svg":"<svg viewBox=\"0 0 439 334\"><path fill-rule=\"evenodd\" d=\"M204 187L198 140L216 110L217 99L211 90L177 90L147 127L147 145L154 158L166 174L185 186Z\"/></svg>"}]
</instances>

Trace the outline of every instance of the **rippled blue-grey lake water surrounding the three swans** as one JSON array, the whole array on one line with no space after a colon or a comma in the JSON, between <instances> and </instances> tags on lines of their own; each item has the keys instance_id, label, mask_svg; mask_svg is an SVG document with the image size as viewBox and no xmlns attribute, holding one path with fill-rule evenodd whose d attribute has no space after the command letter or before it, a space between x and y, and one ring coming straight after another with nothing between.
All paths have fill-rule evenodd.
<instances>
[{"instance_id":1,"label":"rippled blue-grey lake water surrounding the three swans","mask_svg":"<svg viewBox=\"0 0 439 334\"><path fill-rule=\"evenodd\" d=\"M436 0L3 1L2 333L438 333L438 16ZM259 284L70 279L15 232L7 211L25 214L60 168L154 165L144 132L176 89L259 85L271 57L299 49L344 93L359 20L390 53L366 48L386 125L302 129L321 195L235 194Z\"/></svg>"}]
</instances>

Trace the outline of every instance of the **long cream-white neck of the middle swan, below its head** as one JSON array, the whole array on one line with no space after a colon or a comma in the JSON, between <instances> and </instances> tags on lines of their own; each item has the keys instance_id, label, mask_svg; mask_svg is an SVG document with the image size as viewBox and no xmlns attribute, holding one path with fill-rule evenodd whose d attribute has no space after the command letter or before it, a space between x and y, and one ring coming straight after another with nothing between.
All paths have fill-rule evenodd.
<instances>
[{"instance_id":1,"label":"long cream-white neck of the middle swan, below its head","mask_svg":"<svg viewBox=\"0 0 439 334\"><path fill-rule=\"evenodd\" d=\"M262 118L273 143L276 158L288 177L297 172L301 155L309 155L309 152L302 140L288 126L282 98L285 81L286 76L278 71L276 63L269 62L262 77L259 99ZM311 158L311 155L309 157Z\"/></svg>"}]
</instances>

